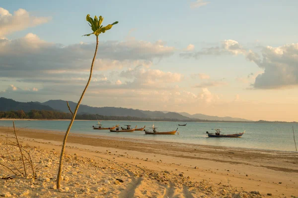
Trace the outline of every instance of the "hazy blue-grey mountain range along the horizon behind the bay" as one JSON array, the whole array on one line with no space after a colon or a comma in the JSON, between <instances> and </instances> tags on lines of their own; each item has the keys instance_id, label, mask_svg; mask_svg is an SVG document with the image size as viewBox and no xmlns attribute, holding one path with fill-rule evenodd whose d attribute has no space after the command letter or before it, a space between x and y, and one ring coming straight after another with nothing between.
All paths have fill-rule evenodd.
<instances>
[{"instance_id":1,"label":"hazy blue-grey mountain range along the horizon behind the bay","mask_svg":"<svg viewBox=\"0 0 298 198\"><path fill-rule=\"evenodd\" d=\"M74 110L76 103L69 101L71 109ZM65 100L48 100L46 102L18 102L13 99L0 98L0 111L10 110L23 110L25 112L31 109L37 110L56 110L62 112L69 112L67 103ZM105 116L131 116L139 118L152 118L152 119L177 119L177 120L218 120L218 121L251 121L241 118L232 117L218 117L209 116L203 114L189 114L189 113L177 113L170 111L144 111L132 108L121 107L92 107L81 104L78 108L78 114L98 114Z\"/></svg>"}]
</instances>

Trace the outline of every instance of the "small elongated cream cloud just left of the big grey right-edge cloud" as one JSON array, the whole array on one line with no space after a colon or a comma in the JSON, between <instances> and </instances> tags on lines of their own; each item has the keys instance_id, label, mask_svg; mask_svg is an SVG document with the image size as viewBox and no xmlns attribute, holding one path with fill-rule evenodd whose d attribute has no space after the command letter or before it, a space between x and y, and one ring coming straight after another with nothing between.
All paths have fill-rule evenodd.
<instances>
[{"instance_id":1,"label":"small elongated cream cloud just left of the big grey right-edge cloud","mask_svg":"<svg viewBox=\"0 0 298 198\"><path fill-rule=\"evenodd\" d=\"M180 56L183 58L199 58L202 55L239 55L246 54L244 49L237 41L224 40L221 45L211 48L203 48L200 51L183 52Z\"/></svg>"}]
</instances>

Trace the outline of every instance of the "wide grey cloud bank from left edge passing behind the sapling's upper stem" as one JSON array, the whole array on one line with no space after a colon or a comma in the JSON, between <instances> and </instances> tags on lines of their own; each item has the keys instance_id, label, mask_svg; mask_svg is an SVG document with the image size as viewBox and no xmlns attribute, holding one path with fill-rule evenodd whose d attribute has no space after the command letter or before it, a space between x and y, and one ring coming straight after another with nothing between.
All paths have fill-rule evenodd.
<instances>
[{"instance_id":1,"label":"wide grey cloud bank from left edge passing behind the sapling's upper stem","mask_svg":"<svg viewBox=\"0 0 298 198\"><path fill-rule=\"evenodd\" d=\"M154 60L171 56L174 50L162 41L99 42L94 71L137 65L149 67ZM0 78L46 81L55 78L55 72L62 71L67 71L65 75L76 71L76 76L80 77L81 73L89 72L93 53L93 43L63 46L43 41L32 33L20 39L0 39Z\"/></svg>"}]
</instances>

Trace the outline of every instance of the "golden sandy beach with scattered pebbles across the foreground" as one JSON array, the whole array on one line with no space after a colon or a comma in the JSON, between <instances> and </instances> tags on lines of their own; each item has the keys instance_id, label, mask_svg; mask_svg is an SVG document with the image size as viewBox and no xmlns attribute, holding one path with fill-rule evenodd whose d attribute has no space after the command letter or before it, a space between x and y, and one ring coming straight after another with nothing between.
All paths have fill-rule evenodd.
<instances>
[{"instance_id":1,"label":"golden sandy beach with scattered pebbles across the foreground","mask_svg":"<svg viewBox=\"0 0 298 198\"><path fill-rule=\"evenodd\" d=\"M1 163L7 160L7 131L11 136L11 129L0 127ZM295 152L83 134L68 138L64 180L57 190L55 177L64 133L22 129L17 134L42 168L32 182L0 166L3 197L298 197ZM9 176L13 179L7 179Z\"/></svg>"}]
</instances>

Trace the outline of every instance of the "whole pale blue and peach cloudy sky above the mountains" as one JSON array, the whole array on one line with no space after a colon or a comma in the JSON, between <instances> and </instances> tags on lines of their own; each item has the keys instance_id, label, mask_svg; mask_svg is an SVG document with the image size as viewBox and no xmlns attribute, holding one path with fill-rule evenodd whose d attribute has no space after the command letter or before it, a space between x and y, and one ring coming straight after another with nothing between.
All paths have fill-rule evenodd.
<instances>
[{"instance_id":1,"label":"whole pale blue and peach cloudy sky above the mountains","mask_svg":"<svg viewBox=\"0 0 298 198\"><path fill-rule=\"evenodd\" d=\"M298 121L297 0L9 0L0 97Z\"/></svg>"}]
</instances>

